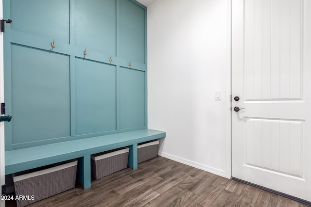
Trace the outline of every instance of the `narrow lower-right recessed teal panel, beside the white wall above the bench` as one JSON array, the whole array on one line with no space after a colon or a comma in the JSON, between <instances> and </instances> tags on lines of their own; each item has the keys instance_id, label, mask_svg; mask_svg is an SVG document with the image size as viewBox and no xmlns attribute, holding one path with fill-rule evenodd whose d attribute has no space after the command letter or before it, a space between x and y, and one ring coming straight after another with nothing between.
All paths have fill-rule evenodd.
<instances>
[{"instance_id":1,"label":"narrow lower-right recessed teal panel, beside the white wall above the bench","mask_svg":"<svg viewBox=\"0 0 311 207\"><path fill-rule=\"evenodd\" d=\"M145 72L120 68L120 127L145 126Z\"/></svg>"}]
</instances>

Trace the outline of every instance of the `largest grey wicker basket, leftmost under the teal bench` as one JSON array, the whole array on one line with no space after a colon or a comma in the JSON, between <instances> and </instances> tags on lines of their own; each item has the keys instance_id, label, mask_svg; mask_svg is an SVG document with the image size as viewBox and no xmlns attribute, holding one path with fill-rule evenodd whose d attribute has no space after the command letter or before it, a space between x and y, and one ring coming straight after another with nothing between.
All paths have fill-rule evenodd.
<instances>
[{"instance_id":1,"label":"largest grey wicker basket, leftmost under the teal bench","mask_svg":"<svg viewBox=\"0 0 311 207\"><path fill-rule=\"evenodd\" d=\"M24 207L74 188L77 163L73 159L46 166L49 167L47 169L41 167L13 174L17 207Z\"/></svg>"}]
</instances>

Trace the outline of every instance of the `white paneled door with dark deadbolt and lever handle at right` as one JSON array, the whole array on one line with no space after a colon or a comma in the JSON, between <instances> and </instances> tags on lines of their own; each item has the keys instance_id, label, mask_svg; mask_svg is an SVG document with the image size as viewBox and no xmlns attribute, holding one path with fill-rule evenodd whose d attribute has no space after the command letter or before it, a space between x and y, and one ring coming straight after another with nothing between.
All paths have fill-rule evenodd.
<instances>
[{"instance_id":1,"label":"white paneled door with dark deadbolt and lever handle at right","mask_svg":"<svg viewBox=\"0 0 311 207\"><path fill-rule=\"evenodd\" d=\"M232 0L232 177L311 201L311 0Z\"/></svg>"}]
</instances>

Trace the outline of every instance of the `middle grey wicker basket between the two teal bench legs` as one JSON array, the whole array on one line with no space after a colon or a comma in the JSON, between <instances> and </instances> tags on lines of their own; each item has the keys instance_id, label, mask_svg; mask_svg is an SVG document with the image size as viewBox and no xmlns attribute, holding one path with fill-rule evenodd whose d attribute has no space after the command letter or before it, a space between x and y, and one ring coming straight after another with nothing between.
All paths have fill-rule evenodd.
<instances>
[{"instance_id":1,"label":"middle grey wicker basket between the two teal bench legs","mask_svg":"<svg viewBox=\"0 0 311 207\"><path fill-rule=\"evenodd\" d=\"M100 179L127 168L129 150L128 147L121 147L91 155L92 176Z\"/></svg>"}]
</instances>

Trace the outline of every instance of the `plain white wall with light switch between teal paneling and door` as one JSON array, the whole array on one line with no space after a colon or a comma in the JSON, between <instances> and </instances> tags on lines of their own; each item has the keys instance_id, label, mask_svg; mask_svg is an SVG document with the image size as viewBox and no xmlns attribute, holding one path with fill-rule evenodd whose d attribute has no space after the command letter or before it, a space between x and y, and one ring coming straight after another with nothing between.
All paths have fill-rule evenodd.
<instances>
[{"instance_id":1,"label":"plain white wall with light switch between teal paneling and door","mask_svg":"<svg viewBox=\"0 0 311 207\"><path fill-rule=\"evenodd\" d=\"M223 176L230 169L228 2L157 0L147 10L148 128L167 133L160 155Z\"/></svg>"}]
</instances>

